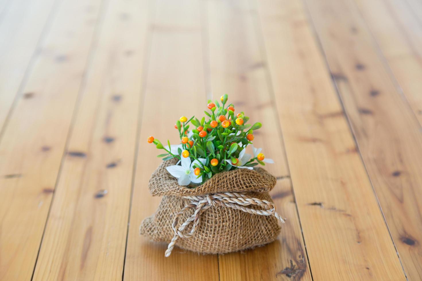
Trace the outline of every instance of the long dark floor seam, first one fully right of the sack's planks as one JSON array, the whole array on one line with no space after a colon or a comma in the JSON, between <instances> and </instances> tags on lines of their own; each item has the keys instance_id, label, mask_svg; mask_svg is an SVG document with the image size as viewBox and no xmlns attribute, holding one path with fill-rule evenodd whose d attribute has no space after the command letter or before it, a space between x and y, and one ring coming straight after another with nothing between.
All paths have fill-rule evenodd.
<instances>
[{"instance_id":1,"label":"long dark floor seam, first one fully right of the sack's planks","mask_svg":"<svg viewBox=\"0 0 422 281\"><path fill-rule=\"evenodd\" d=\"M311 31L312 31L312 34L314 35L315 42L317 43L317 47L318 47L318 49L319 49L320 53L322 54L322 57L324 58L325 68L327 69L328 74L330 74L330 73L331 73L331 70L330 70L330 65L329 65L329 63L328 63L327 56L325 55L324 48L322 47L321 39L320 39L320 38L319 38L319 36L318 36L318 33L317 33L317 29L316 29L316 27L315 27L314 20L312 19L311 11L309 10L309 7L308 7L308 4L306 3L306 0L302 0L302 3L303 3L303 5L304 5L304 7L306 7L306 8L305 8L305 10L306 10L306 14L307 14L307 19L308 19L309 25L311 26ZM362 162L363 167L365 168L365 171L366 171L366 176L368 177L369 182L370 182L370 184L371 184L372 192L373 192L373 194L374 194L374 196L375 196L376 202L377 202L378 207L379 207L379 209L380 209L380 211L381 211L381 215L382 215L382 217L383 217L383 219L384 219L384 223L385 223L385 225L386 225L386 227L387 227L388 234L390 235L390 239L391 239L392 244L393 244L393 246L394 246L394 249L395 249L395 252L396 252L396 254L397 254L398 260L399 260L399 262L400 262L401 268L402 268L403 273L404 273L404 275L405 275L405 277L406 277L406 280L408 280L408 278L407 278L407 276L406 276L406 272L404 271L403 262L401 261L400 256L399 256L399 254L398 254L398 250L397 250L397 247L396 247L396 245L395 245L395 243L394 243L393 237L392 237L392 235L391 235L390 228L388 227L387 220L385 219L384 212L382 211L381 204L380 204L380 202L379 202L378 196L376 195L375 188L373 187L373 183L372 183L371 177L369 177L369 173L368 173L368 169L367 169L367 167L366 167L365 161L363 161L362 153L361 153L361 150L360 150L360 147L359 147L359 143L357 142L357 139L356 139L356 136L355 136L354 130L353 130L353 128L352 128L352 123L351 123L351 120L350 120L350 118L349 118L349 115L348 115L348 114L347 114L347 112L346 112L346 108L345 108L345 106L344 106L344 102L343 102L343 100L342 100L342 98L341 98L340 90L339 90L339 88L338 88L338 86L337 86L337 83L335 82L335 80L334 80L334 78L333 78L333 75L330 75L330 80L331 80L331 83L333 84L333 87L334 87L335 92L336 92L336 94L337 94L338 101L340 102L340 105L341 105L342 110L343 110L343 112L344 112L344 116L345 116L345 118L346 118L346 120L347 120L347 122L346 122L346 123L347 123L347 125L349 126L349 130L350 130L350 132L351 132L351 134L352 134L353 141L354 141L354 143L355 143L355 145L356 145L356 147L357 147L357 150L358 150L358 152L359 152L358 154L359 154L359 157L360 157L360 161Z\"/></svg>"}]
</instances>

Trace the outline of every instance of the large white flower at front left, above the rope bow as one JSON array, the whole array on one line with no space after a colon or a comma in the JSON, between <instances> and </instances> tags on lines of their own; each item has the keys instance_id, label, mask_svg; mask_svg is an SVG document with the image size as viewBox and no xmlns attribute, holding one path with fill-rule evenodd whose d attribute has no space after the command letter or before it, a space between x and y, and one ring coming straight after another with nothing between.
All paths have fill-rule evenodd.
<instances>
[{"instance_id":1,"label":"large white flower at front left, above the rope bow","mask_svg":"<svg viewBox=\"0 0 422 281\"><path fill-rule=\"evenodd\" d=\"M199 158L202 165L205 165L206 159ZM189 185L190 182L200 183L202 182L202 176L197 179L197 176L194 174L194 164L201 166L200 163L195 160L191 163L190 158L181 157L181 166L173 165L168 166L167 171L175 178L179 179L179 185Z\"/></svg>"}]
</instances>

